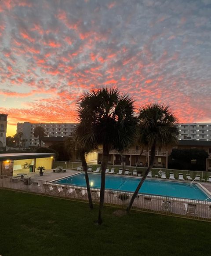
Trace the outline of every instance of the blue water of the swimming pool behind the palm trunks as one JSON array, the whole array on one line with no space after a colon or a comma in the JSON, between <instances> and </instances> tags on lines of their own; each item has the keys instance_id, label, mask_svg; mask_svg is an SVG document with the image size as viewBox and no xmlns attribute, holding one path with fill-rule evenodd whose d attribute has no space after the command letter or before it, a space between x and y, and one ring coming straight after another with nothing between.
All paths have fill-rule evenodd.
<instances>
[{"instance_id":1,"label":"blue water of the swimming pool behind the palm trunks","mask_svg":"<svg viewBox=\"0 0 211 256\"><path fill-rule=\"evenodd\" d=\"M89 182L91 187L100 188L101 176L98 174L89 173ZM134 192L139 182L140 179L137 178L107 175L106 189ZM67 183L86 187L85 174L79 173L65 179L59 179L56 181L56 183ZM199 200L205 200L207 197L209 197L196 184L190 185L190 183L169 182L154 179L146 179L139 190L139 193Z\"/></svg>"}]
</instances>

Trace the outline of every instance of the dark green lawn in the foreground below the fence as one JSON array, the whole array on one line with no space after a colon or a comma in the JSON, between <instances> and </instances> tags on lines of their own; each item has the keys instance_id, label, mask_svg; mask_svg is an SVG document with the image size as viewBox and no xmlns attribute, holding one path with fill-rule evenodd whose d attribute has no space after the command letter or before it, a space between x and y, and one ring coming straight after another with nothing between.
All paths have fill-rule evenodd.
<instances>
[{"instance_id":1,"label":"dark green lawn in the foreground below the fence","mask_svg":"<svg viewBox=\"0 0 211 256\"><path fill-rule=\"evenodd\" d=\"M210 255L211 223L0 190L2 256Z\"/></svg>"}]
</instances>

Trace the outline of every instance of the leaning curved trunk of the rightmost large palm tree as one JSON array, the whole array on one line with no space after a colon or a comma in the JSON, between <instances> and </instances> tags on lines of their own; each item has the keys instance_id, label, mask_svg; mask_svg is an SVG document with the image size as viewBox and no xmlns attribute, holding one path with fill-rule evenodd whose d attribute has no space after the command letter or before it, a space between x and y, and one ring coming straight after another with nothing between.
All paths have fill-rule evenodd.
<instances>
[{"instance_id":1,"label":"leaning curved trunk of the rightmost large palm tree","mask_svg":"<svg viewBox=\"0 0 211 256\"><path fill-rule=\"evenodd\" d=\"M156 142L153 143L152 147L151 147L151 156L150 156L150 161L149 161L149 166L143 176L143 178L141 179L140 183L138 184L138 187L136 188L133 196L131 197L131 201L129 203L129 205L127 206L127 212L130 211L132 205L133 205L133 202L135 200L135 197L137 197L138 195L138 191L140 190L140 188L142 187L142 184L144 183L149 171L151 170L151 168L153 167L153 163L154 163L154 160L155 160L155 147L156 147Z\"/></svg>"}]
</instances>

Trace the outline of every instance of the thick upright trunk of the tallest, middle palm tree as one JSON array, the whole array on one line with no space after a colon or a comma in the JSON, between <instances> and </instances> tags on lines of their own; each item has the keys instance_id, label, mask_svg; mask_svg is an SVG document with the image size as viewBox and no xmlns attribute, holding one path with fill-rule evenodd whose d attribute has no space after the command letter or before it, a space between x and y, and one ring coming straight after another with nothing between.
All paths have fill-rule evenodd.
<instances>
[{"instance_id":1,"label":"thick upright trunk of the tallest, middle palm tree","mask_svg":"<svg viewBox=\"0 0 211 256\"><path fill-rule=\"evenodd\" d=\"M101 162L101 186L100 186L100 203L98 213L98 224L102 224L102 207L104 203L105 183L106 183L106 168L109 160L109 145L103 144L102 147L102 162Z\"/></svg>"}]
</instances>

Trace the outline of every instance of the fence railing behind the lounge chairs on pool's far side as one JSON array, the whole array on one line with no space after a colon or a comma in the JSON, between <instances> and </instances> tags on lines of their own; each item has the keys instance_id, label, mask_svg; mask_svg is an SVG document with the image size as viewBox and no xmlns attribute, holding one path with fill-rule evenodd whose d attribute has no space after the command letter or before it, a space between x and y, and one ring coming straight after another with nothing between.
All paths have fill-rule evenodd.
<instances>
[{"instance_id":1,"label":"fence railing behind the lounge chairs on pool's far side","mask_svg":"<svg viewBox=\"0 0 211 256\"><path fill-rule=\"evenodd\" d=\"M62 162L62 161L55 161L54 168L56 166L64 166L65 168L77 168L77 166L81 166L80 162ZM100 167L100 165L97 164L91 164L89 166L92 166L92 170L96 170L97 167ZM141 171L142 176L144 176L147 168L146 167L135 167L135 166L122 166L122 165L108 165L108 168L114 168L115 173L119 172L120 168L123 168L124 171L128 169L130 172L133 170ZM187 174L189 174L192 179L196 177L196 175L200 175L200 179L203 181L207 181L209 177L211 176L211 172L201 172L201 171L188 171L188 170L176 170L176 169L166 169L166 168L152 168L152 176L155 177L156 175L159 176L159 171L165 172L167 179L170 176L170 172L174 173L175 179L178 179L179 173L183 174L183 178L186 179ZM204 180L203 180L204 179Z\"/></svg>"}]
</instances>

